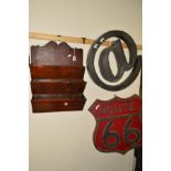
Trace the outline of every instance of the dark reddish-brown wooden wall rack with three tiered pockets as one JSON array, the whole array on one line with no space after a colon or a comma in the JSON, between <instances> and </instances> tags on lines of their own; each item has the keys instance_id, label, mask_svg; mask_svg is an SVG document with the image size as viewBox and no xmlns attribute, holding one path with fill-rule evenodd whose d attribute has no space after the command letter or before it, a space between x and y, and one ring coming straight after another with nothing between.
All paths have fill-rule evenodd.
<instances>
[{"instance_id":1,"label":"dark reddish-brown wooden wall rack with three tiered pockets","mask_svg":"<svg viewBox=\"0 0 171 171\"><path fill-rule=\"evenodd\" d=\"M83 50L51 41L44 46L31 46L31 90L33 113L82 110Z\"/></svg>"}]
</instances>

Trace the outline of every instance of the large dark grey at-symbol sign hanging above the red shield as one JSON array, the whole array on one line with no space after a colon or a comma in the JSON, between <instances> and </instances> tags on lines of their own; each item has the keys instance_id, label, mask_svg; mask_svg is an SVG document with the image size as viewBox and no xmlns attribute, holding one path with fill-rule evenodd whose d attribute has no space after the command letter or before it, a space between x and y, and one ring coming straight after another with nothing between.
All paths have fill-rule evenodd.
<instances>
[{"instance_id":1,"label":"large dark grey at-symbol sign hanging above the red shield","mask_svg":"<svg viewBox=\"0 0 171 171\"><path fill-rule=\"evenodd\" d=\"M126 71L131 70L129 76L122 83L120 83L118 85L108 85L108 84L104 83L98 77L98 75L95 71L95 65L94 65L95 55L96 55L97 50L103 44L103 42L105 42L107 39L111 39L111 38L118 38L118 39L116 41L114 41L109 47L106 47L100 52L98 66L99 66L99 71L100 71L103 78L108 82L111 82L111 83L118 82L122 77L122 75ZM127 60L126 60L120 40L122 40L128 46L129 62L127 62ZM117 71L116 75L114 75L110 70L110 64L109 64L109 53L110 52L114 53L116 63L117 63L118 71ZM89 74L90 78L99 87L107 89L107 90L120 90L120 89L124 89L127 86L129 86L138 76L140 68L141 68L141 64L142 64L141 56L137 56L137 46L136 46L136 43L132 40L132 38L129 34L127 34L126 32L118 31L118 30L109 31L109 32L100 35L93 43L93 45L90 46L90 49L88 51L88 55L87 55L87 70L88 70L88 74Z\"/></svg>"}]
</instances>

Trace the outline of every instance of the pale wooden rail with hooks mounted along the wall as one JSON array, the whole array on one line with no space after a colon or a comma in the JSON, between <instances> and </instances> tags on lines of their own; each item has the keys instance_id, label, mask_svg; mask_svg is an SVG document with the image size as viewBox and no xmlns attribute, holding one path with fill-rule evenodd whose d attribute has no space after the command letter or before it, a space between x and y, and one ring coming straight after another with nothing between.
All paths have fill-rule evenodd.
<instances>
[{"instance_id":1,"label":"pale wooden rail with hooks mounted along the wall","mask_svg":"<svg viewBox=\"0 0 171 171\"><path fill-rule=\"evenodd\" d=\"M93 44L95 40L87 39L87 38L75 38L75 36L65 36L65 35L54 35L54 34L45 34L45 33L38 33L38 32L29 32L29 39L35 40L50 40L50 41L60 41L60 42L67 42L67 43L79 43L79 44ZM109 46L111 42L105 41L103 43L104 46ZM124 49L127 49L127 45L122 43ZM137 44L137 50L142 50L141 44Z\"/></svg>"}]
</instances>

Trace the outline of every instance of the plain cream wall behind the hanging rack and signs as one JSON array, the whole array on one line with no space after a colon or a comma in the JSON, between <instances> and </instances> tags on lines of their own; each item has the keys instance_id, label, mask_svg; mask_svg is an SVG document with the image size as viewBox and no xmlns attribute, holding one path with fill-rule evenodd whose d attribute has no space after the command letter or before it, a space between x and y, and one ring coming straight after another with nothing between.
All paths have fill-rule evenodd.
<instances>
[{"instance_id":1,"label":"plain cream wall behind the hanging rack and signs","mask_svg":"<svg viewBox=\"0 0 171 171\"><path fill-rule=\"evenodd\" d=\"M30 31L34 32L96 39L109 30L124 30L141 44L141 0L30 0ZM30 40L30 45L46 42ZM84 49L85 65L89 46L70 45ZM122 156L95 149L95 119L87 109L96 98L138 94L139 76L116 93L97 87L87 71L84 79L83 111L32 114L30 106L30 171L132 171L133 150Z\"/></svg>"}]
</instances>

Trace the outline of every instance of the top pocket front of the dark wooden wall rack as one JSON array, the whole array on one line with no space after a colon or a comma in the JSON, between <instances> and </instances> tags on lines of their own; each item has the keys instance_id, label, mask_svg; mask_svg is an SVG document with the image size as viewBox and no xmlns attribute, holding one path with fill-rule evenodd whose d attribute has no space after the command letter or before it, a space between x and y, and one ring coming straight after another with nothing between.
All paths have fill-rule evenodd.
<instances>
[{"instance_id":1,"label":"top pocket front of the dark wooden wall rack","mask_svg":"<svg viewBox=\"0 0 171 171\"><path fill-rule=\"evenodd\" d=\"M85 67L30 65L32 79L83 79Z\"/></svg>"}]
</instances>

